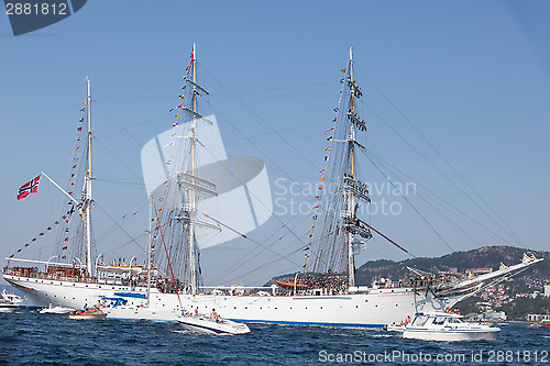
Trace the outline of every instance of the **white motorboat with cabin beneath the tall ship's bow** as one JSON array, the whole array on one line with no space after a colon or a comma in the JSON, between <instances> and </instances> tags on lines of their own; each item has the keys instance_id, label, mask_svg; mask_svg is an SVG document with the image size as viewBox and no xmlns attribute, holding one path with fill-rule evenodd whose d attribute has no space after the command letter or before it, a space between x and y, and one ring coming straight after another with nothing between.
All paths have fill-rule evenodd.
<instances>
[{"instance_id":1,"label":"white motorboat with cabin beneath the tall ship's bow","mask_svg":"<svg viewBox=\"0 0 550 366\"><path fill-rule=\"evenodd\" d=\"M417 313L410 324L405 326L404 339L424 341L479 341L494 340L499 328L468 323L462 315L431 312Z\"/></svg>"}]
</instances>

